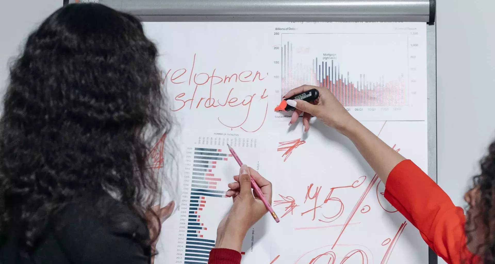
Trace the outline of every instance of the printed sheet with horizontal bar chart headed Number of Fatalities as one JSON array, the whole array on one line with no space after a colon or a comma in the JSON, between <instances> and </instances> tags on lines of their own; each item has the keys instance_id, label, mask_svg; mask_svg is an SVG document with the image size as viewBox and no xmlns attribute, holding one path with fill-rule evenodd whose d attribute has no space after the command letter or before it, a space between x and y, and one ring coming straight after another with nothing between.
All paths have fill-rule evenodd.
<instances>
[{"instance_id":1,"label":"printed sheet with horizontal bar chart headed Number of Fatalities","mask_svg":"<svg viewBox=\"0 0 495 264\"><path fill-rule=\"evenodd\" d=\"M231 146L246 164L263 168L258 161L260 153L267 153L269 144L260 144L250 134L220 133L205 130L202 133L184 133L181 149L182 191L175 222L169 222L177 240L167 243L164 251L175 253L167 263L207 264L210 251L215 247L217 227L232 208L233 199L226 197L228 184L239 173L239 164L230 153ZM260 146L266 146L260 148ZM262 159L261 159L262 160ZM262 171L263 172L263 171ZM168 220L167 220L168 221ZM166 224L166 221L165 221ZM241 248L242 263L266 263L269 254L263 252L264 222L254 224ZM268 238L266 238L268 239Z\"/></svg>"}]
</instances>

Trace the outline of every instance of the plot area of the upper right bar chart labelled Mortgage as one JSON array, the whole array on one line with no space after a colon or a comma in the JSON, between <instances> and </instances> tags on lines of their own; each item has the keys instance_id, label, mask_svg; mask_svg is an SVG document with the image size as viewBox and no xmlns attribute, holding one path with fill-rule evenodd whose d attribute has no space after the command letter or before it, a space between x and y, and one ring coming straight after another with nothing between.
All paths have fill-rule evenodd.
<instances>
[{"instance_id":1,"label":"plot area of the upper right bar chart labelled Mortgage","mask_svg":"<svg viewBox=\"0 0 495 264\"><path fill-rule=\"evenodd\" d=\"M356 40L365 39L369 40L366 45L356 44ZM391 52L386 45L393 40L403 41L404 48L387 56ZM375 47L369 48L367 43ZM369 51L350 53L352 45L368 47ZM328 88L344 106L409 104L405 34L283 34L280 59L282 95L309 84Z\"/></svg>"}]
</instances>

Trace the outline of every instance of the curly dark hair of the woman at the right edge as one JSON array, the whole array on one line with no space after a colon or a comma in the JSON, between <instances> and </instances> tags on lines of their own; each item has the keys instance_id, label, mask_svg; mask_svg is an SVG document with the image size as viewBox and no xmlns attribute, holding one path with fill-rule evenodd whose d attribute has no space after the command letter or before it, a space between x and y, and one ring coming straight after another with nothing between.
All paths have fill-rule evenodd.
<instances>
[{"instance_id":1,"label":"curly dark hair of the woman at the right edge","mask_svg":"<svg viewBox=\"0 0 495 264\"><path fill-rule=\"evenodd\" d=\"M467 244L474 243L476 252L473 253L481 258L482 264L493 264L495 263L495 141L488 147L488 154L481 159L480 170L480 174L473 177L473 187L467 193L470 200L474 200L472 204L476 207L476 210L469 210L467 215ZM474 264L474 258L464 263Z\"/></svg>"}]
</instances>

